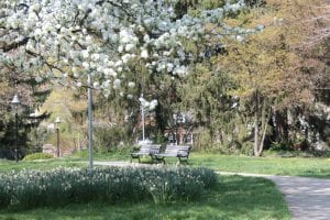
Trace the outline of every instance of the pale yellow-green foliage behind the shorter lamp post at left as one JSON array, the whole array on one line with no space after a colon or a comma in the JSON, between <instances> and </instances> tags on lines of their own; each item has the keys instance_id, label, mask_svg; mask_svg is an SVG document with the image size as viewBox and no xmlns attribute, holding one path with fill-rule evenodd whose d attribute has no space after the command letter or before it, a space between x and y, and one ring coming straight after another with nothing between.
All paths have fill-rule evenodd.
<instances>
[{"instance_id":1,"label":"pale yellow-green foliage behind the shorter lamp post at left","mask_svg":"<svg viewBox=\"0 0 330 220\"><path fill-rule=\"evenodd\" d=\"M42 143L56 145L56 128L59 129L59 147L62 151L70 148L81 148L87 145L85 140L86 108L87 101L84 97L76 97L75 91L67 88L55 86L52 94L42 105L41 111L51 111L48 119L44 120L37 128L41 132L38 140L43 138ZM55 124L56 118L61 123Z\"/></svg>"}]
</instances>

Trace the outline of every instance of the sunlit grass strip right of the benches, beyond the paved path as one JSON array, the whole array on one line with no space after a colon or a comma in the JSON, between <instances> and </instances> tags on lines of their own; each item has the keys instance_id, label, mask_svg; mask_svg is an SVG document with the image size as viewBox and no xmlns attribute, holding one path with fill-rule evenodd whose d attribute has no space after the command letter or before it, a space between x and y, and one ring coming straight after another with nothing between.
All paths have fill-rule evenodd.
<instances>
[{"instance_id":1,"label":"sunlit grass strip right of the benches, beyond the paved path","mask_svg":"<svg viewBox=\"0 0 330 220\"><path fill-rule=\"evenodd\" d=\"M255 158L193 153L190 162L193 165L204 165L222 172L330 178L330 161L328 158L275 156Z\"/></svg>"}]
</instances>

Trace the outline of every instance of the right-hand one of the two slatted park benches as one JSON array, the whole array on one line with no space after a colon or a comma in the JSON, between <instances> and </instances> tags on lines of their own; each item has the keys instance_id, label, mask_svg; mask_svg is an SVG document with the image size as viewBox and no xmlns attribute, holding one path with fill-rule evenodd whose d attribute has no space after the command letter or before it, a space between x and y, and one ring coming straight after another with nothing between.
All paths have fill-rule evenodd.
<instances>
[{"instance_id":1,"label":"right-hand one of the two slatted park benches","mask_svg":"<svg viewBox=\"0 0 330 220\"><path fill-rule=\"evenodd\" d=\"M187 164L190 150L191 146L189 145L167 145L164 153L154 154L154 158L165 164L165 157L177 157L178 163Z\"/></svg>"}]
</instances>

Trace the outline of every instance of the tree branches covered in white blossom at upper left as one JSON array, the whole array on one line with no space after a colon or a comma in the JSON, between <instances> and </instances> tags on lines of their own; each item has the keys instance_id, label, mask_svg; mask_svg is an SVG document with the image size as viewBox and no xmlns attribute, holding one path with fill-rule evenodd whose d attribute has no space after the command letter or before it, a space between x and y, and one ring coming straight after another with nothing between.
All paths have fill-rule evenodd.
<instances>
[{"instance_id":1,"label":"tree branches covered in white blossom at upper left","mask_svg":"<svg viewBox=\"0 0 330 220\"><path fill-rule=\"evenodd\" d=\"M135 65L150 74L183 77L198 56L183 41L205 45L231 35L243 41L254 30L232 29L221 23L223 15L244 7L243 1L201 11L196 16L177 16L175 1L153 0L19 0L1 1L0 58L14 72L41 81L45 78L66 86L92 87L105 96L120 90L132 98ZM207 29L206 24L216 24ZM217 42L219 44L219 42Z\"/></svg>"}]
</instances>

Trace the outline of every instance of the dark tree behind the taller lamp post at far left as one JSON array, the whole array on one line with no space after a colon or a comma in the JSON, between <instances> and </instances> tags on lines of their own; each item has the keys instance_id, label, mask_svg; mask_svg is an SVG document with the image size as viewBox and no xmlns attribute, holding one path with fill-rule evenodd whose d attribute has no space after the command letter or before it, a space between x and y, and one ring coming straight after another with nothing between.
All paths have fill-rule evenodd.
<instances>
[{"instance_id":1,"label":"dark tree behind the taller lamp post at far left","mask_svg":"<svg viewBox=\"0 0 330 220\"><path fill-rule=\"evenodd\" d=\"M0 157L14 158L14 111L10 105L16 94L21 101L19 106L19 132L18 146L20 157L40 147L35 142L36 128L41 121L48 117L47 112L37 113L41 105L50 94L50 88L43 82L12 72L6 64L0 64L1 68L1 109L0 109Z\"/></svg>"}]
</instances>

